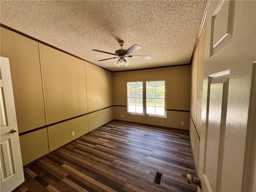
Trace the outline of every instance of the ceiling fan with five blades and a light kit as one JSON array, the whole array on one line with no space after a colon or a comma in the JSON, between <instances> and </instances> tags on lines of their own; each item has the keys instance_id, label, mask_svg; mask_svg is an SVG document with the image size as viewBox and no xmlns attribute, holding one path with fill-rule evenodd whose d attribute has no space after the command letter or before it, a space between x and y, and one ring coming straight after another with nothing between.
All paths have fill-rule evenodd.
<instances>
[{"instance_id":1,"label":"ceiling fan with five blades and a light kit","mask_svg":"<svg viewBox=\"0 0 256 192\"><path fill-rule=\"evenodd\" d=\"M124 41L119 41L118 43L121 46L121 49L116 50L115 53L109 53L109 52L93 49L93 51L98 51L98 52L102 52L102 53L106 53L106 54L110 54L110 55L115 55L116 56L116 57L102 59L102 60L98 60L98 61L104 61L104 60L108 60L108 59L119 58L116 61L116 63L115 63L116 66L119 67L120 65L121 66L122 65L128 66L130 64L126 57L134 58L134 59L150 59L151 58L151 56L145 56L145 55L130 55L133 52L135 52L135 51L137 51L137 50L139 50L141 48L141 46L139 46L139 45L134 44L134 45L130 46L127 50L125 50L125 49L123 49Z\"/></svg>"}]
</instances>

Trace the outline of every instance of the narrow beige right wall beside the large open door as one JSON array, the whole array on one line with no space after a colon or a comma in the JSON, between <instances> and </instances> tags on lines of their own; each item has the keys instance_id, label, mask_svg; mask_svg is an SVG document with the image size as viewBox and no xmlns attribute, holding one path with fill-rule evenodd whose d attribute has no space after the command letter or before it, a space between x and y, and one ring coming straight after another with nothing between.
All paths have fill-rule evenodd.
<instances>
[{"instance_id":1,"label":"narrow beige right wall beside the large open door","mask_svg":"<svg viewBox=\"0 0 256 192\"><path fill-rule=\"evenodd\" d=\"M191 66L191 97L189 133L196 168L199 166L202 90L204 77L205 26L202 29Z\"/></svg>"}]
</instances>

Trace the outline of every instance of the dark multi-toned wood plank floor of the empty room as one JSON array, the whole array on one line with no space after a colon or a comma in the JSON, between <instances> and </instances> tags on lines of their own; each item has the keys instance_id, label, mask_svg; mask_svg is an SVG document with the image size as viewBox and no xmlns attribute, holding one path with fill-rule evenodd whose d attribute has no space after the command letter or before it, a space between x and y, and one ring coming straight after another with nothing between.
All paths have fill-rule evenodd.
<instances>
[{"instance_id":1,"label":"dark multi-toned wood plank floor of the empty room","mask_svg":"<svg viewBox=\"0 0 256 192\"><path fill-rule=\"evenodd\" d=\"M162 185L153 184L156 171ZM188 131L112 121L24 168L14 192L189 192Z\"/></svg>"}]
</instances>

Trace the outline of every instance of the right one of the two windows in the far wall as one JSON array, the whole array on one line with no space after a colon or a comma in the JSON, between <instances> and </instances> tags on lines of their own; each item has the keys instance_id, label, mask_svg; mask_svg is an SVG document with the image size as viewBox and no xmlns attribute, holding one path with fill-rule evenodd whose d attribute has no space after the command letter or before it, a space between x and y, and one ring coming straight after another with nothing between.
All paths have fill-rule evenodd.
<instances>
[{"instance_id":1,"label":"right one of the two windows in the far wall","mask_svg":"<svg viewBox=\"0 0 256 192\"><path fill-rule=\"evenodd\" d=\"M146 114L165 115L165 81L146 82Z\"/></svg>"}]
</instances>

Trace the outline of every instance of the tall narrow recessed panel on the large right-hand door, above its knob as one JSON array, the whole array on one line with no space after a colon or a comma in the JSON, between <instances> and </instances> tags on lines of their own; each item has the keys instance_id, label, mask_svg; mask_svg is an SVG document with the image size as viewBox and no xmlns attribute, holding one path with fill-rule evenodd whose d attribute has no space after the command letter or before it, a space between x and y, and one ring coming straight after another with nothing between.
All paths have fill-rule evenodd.
<instances>
[{"instance_id":1,"label":"tall narrow recessed panel on the large right-hand door, above its knob","mask_svg":"<svg viewBox=\"0 0 256 192\"><path fill-rule=\"evenodd\" d=\"M212 74L208 79L208 103L204 138L205 160L202 186L206 191L221 191L226 133L230 71Z\"/></svg>"}]
</instances>

